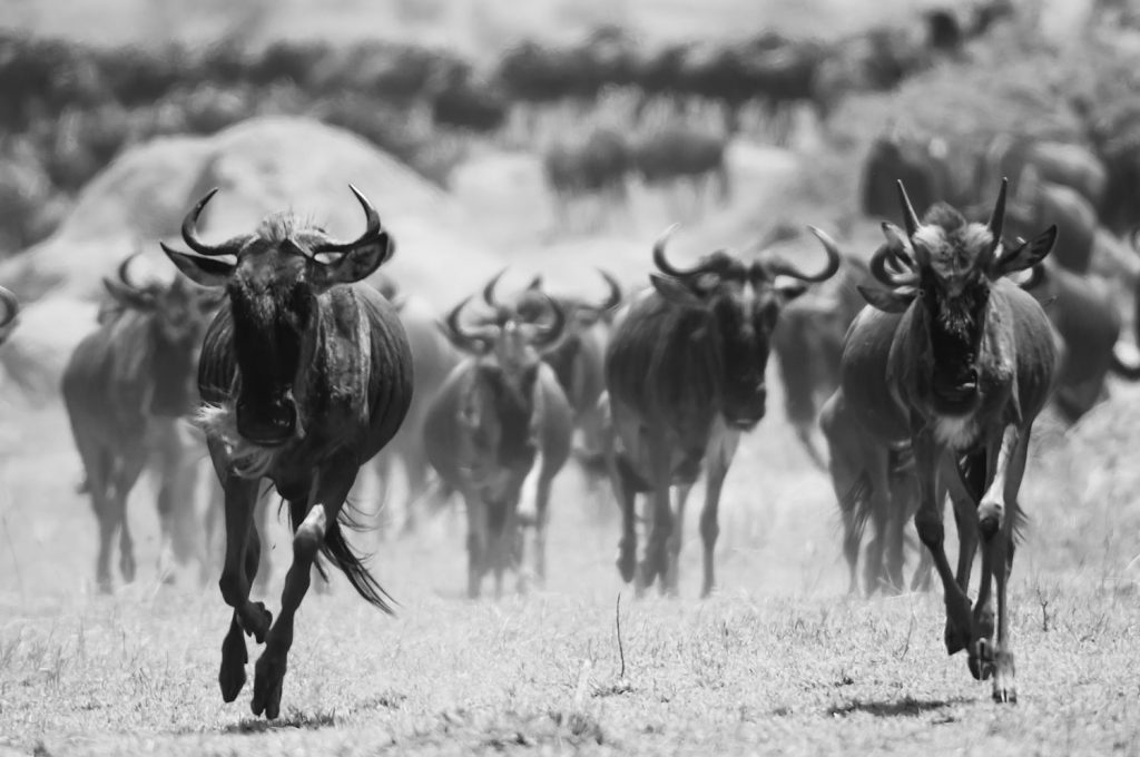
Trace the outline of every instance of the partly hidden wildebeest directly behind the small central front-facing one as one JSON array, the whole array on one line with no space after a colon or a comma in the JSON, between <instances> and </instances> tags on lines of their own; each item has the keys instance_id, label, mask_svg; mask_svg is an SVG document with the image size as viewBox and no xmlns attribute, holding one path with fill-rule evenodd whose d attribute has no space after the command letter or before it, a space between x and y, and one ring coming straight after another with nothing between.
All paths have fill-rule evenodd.
<instances>
[{"instance_id":1,"label":"partly hidden wildebeest directly behind the small central front-facing one","mask_svg":"<svg viewBox=\"0 0 1140 757\"><path fill-rule=\"evenodd\" d=\"M604 270L606 295L601 302L589 302L577 296L554 296L565 314L567 325L562 339L543 352L554 371L559 385L573 410L575 428L581 433L581 462L588 471L595 470L602 450L602 418L597 401L605 391L605 344L614 309L621 303L621 285ZM487 290L494 294L494 287ZM536 277L519 298L516 308L524 320L537 320L547 307L542 277ZM487 304L502 307L494 300Z\"/></svg>"}]
</instances>

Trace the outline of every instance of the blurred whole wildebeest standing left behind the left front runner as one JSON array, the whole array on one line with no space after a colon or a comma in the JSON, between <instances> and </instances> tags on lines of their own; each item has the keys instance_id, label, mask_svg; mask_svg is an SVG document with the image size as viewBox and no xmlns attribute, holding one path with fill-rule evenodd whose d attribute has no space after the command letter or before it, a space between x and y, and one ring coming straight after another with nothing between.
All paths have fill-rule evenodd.
<instances>
[{"instance_id":1,"label":"blurred whole wildebeest standing left behind the left front runner","mask_svg":"<svg viewBox=\"0 0 1140 757\"><path fill-rule=\"evenodd\" d=\"M218 298L181 277L165 285L140 285L130 277L135 253L105 278L113 306L75 347L64 368L62 391L75 447L83 462L84 489L99 521L96 581L109 592L112 542L117 532L120 571L135 580L135 546L127 498L148 461L160 474L158 513L163 542L174 536L169 520L186 494L190 461L176 428L194 409L194 375L206 324Z\"/></svg>"}]
</instances>

